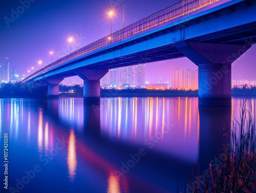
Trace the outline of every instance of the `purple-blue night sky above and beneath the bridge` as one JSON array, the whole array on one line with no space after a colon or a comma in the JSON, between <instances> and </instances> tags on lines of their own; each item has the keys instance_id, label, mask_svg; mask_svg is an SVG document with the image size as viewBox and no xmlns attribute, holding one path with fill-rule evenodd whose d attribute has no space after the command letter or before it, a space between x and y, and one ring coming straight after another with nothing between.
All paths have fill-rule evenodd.
<instances>
[{"instance_id":1,"label":"purple-blue night sky above and beneath the bridge","mask_svg":"<svg viewBox=\"0 0 256 193\"><path fill-rule=\"evenodd\" d=\"M26 2L27 0L22 0ZM32 1L32 0L31 0ZM110 34L110 18L108 12L114 10L112 31L123 27L123 4L125 5L125 26L160 11L177 0L33 0L33 3L19 14L18 18L7 26L4 17L11 18L11 9L15 11L21 6L19 1L0 0L0 60L9 58L10 68L16 73L28 74L32 66L45 59L46 65L53 60L70 53L69 37L74 37L72 51L77 48L77 32L79 47L86 46ZM156 3L157 2L157 3ZM236 65L232 67L233 79L256 79L255 63L256 46L248 50ZM1 62L2 64L2 62ZM171 71L176 68L192 68L197 66L187 58L166 60L146 65L146 81L157 82L171 80Z\"/></svg>"}]
</instances>

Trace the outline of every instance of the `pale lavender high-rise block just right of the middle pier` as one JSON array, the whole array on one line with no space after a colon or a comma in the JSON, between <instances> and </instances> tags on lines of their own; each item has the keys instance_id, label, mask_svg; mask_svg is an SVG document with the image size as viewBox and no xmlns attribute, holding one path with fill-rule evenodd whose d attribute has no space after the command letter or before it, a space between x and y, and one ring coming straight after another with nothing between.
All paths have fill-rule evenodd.
<instances>
[{"instance_id":1,"label":"pale lavender high-rise block just right of the middle pier","mask_svg":"<svg viewBox=\"0 0 256 193\"><path fill-rule=\"evenodd\" d=\"M145 84L145 65L136 65L111 69L100 80L102 87L120 87L127 84L132 87L141 88Z\"/></svg>"}]
</instances>

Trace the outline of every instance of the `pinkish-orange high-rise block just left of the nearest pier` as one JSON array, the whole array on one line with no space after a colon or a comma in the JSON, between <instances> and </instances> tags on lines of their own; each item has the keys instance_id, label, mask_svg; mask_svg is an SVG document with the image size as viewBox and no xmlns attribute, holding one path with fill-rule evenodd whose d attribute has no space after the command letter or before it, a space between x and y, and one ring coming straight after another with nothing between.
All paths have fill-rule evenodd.
<instances>
[{"instance_id":1,"label":"pinkish-orange high-rise block just left of the nearest pier","mask_svg":"<svg viewBox=\"0 0 256 193\"><path fill-rule=\"evenodd\" d=\"M175 69L172 70L173 89L198 90L198 70Z\"/></svg>"}]
</instances>

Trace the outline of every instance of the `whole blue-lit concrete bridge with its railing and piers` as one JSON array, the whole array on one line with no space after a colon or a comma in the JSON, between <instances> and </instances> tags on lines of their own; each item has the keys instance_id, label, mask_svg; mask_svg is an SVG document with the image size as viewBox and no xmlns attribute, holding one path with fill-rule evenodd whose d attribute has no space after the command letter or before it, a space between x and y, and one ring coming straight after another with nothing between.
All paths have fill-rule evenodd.
<instances>
[{"instance_id":1,"label":"whole blue-lit concrete bridge with its railing and piers","mask_svg":"<svg viewBox=\"0 0 256 193\"><path fill-rule=\"evenodd\" d=\"M199 105L231 104L231 63L256 41L256 1L183 0L103 37L23 80L59 94L78 75L84 98L100 97L109 69L187 57L199 69ZM171 65L171 64L170 64Z\"/></svg>"}]
</instances>

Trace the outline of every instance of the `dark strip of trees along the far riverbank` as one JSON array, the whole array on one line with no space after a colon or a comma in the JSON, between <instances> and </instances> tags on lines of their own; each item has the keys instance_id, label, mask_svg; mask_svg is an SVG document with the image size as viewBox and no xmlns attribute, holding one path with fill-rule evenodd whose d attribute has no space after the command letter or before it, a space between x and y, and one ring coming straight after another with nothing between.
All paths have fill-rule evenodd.
<instances>
[{"instance_id":1,"label":"dark strip of trees along the far riverbank","mask_svg":"<svg viewBox=\"0 0 256 193\"><path fill-rule=\"evenodd\" d=\"M80 85L59 85L60 97L83 97ZM33 83L4 83L0 85L0 98L44 98L48 95L48 87L36 87ZM197 97L196 91L182 90L148 90L148 89L101 89L101 97ZM256 87L243 89L233 88L232 96L255 97Z\"/></svg>"}]
</instances>

